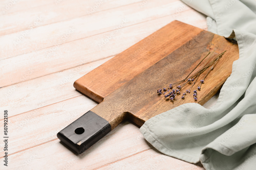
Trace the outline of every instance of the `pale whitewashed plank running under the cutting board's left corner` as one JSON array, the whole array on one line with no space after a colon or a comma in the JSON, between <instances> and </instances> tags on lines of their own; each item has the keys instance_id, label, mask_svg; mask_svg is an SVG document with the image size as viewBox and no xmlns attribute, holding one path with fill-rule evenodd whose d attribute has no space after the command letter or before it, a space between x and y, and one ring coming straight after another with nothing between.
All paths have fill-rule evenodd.
<instances>
[{"instance_id":1,"label":"pale whitewashed plank running under the cutting board's left corner","mask_svg":"<svg viewBox=\"0 0 256 170\"><path fill-rule=\"evenodd\" d=\"M0 98L0 110L10 110L9 116L12 117L63 100L81 96L82 94L76 91L72 86L73 82L81 77L81 75L88 73L111 58L112 57L109 57L62 72L3 87L0 89L3 95ZM86 102L87 100L81 100L81 103ZM2 118L0 119L2 120ZM22 117L20 117L20 119L22 119Z\"/></svg>"}]
</instances>

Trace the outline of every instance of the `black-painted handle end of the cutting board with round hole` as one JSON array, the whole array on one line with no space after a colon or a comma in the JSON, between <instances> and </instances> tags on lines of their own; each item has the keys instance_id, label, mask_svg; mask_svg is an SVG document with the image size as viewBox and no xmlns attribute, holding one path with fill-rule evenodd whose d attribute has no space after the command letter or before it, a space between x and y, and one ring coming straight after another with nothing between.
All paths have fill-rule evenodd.
<instances>
[{"instance_id":1,"label":"black-painted handle end of the cutting board with round hole","mask_svg":"<svg viewBox=\"0 0 256 170\"><path fill-rule=\"evenodd\" d=\"M92 111L88 111L62 129L57 137L80 154L110 131L111 125L107 120Z\"/></svg>"}]
</instances>

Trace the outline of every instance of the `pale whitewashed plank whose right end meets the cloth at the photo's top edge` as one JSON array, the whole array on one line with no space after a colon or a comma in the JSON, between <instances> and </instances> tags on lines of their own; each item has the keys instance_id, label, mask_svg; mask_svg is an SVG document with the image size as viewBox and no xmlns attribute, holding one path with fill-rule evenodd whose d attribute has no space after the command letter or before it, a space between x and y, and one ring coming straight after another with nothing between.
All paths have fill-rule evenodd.
<instances>
[{"instance_id":1,"label":"pale whitewashed plank whose right end meets the cloth at the photo's top edge","mask_svg":"<svg viewBox=\"0 0 256 170\"><path fill-rule=\"evenodd\" d=\"M172 14L170 8L162 7L163 4L167 4L167 1L164 0L161 3L148 2L145 8L141 8L139 3L133 3L115 8L115 10L95 12L93 17L86 15L36 27L30 30L28 34L25 32L26 36L22 35L24 31L3 35L0 37L0 45L3 47L3 50L0 51L0 59L29 53L34 50L55 46L56 44L60 45L106 31L113 31L114 29L116 30L116 27L127 27L168 16ZM159 14L160 8L162 12ZM88 23L90 23L90 26ZM19 40L21 39L20 37L24 38Z\"/></svg>"}]
</instances>

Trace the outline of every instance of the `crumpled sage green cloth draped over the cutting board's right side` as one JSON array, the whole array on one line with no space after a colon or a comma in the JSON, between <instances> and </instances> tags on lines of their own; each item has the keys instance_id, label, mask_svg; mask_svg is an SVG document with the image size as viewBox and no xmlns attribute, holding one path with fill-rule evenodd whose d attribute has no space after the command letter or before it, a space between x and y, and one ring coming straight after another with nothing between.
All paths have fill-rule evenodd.
<instances>
[{"instance_id":1,"label":"crumpled sage green cloth draped over the cutting board's right side","mask_svg":"<svg viewBox=\"0 0 256 170\"><path fill-rule=\"evenodd\" d=\"M140 131L162 153L206 169L256 169L256 1L183 2L208 16L209 31L237 40L239 59L213 107L186 103Z\"/></svg>"}]
</instances>

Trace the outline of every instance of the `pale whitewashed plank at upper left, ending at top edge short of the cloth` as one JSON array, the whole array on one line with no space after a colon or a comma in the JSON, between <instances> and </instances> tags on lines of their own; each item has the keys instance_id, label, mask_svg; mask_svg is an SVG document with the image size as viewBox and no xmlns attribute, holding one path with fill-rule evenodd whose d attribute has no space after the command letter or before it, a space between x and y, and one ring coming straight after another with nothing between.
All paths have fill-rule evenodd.
<instances>
[{"instance_id":1,"label":"pale whitewashed plank at upper left, ending at top edge short of the cloth","mask_svg":"<svg viewBox=\"0 0 256 170\"><path fill-rule=\"evenodd\" d=\"M140 0L120 2L119 0L102 0L102 3L99 3L93 1L74 0L72 3L70 3L70 1L61 1L59 3L51 3L34 8L24 9L19 12L12 12L10 14L0 16L0 21L4 23L3 25L0 25L0 35L10 34L18 31L23 31L23 33L26 33L26 30L29 32L32 31L30 30L31 28L69 20L71 18L78 18L85 15L93 15L95 12L117 8L139 1ZM58 2L58 0L56 0L56 2ZM94 7L95 3L99 3L98 6ZM93 7L95 9L93 9Z\"/></svg>"}]
</instances>

